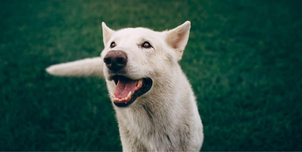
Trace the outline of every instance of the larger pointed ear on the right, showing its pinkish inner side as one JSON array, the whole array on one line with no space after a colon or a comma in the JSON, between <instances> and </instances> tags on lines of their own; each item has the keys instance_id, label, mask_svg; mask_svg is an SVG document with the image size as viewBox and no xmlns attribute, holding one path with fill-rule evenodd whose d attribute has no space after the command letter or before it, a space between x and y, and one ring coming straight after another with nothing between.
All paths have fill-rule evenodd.
<instances>
[{"instance_id":1,"label":"larger pointed ear on the right, showing its pinkish inner side","mask_svg":"<svg viewBox=\"0 0 302 152\"><path fill-rule=\"evenodd\" d=\"M186 21L184 24L179 25L177 28L174 28L166 33L166 42L172 48L175 49L177 54L177 61L182 58L182 53L185 50L189 39L189 33L191 28L191 22Z\"/></svg>"}]
</instances>

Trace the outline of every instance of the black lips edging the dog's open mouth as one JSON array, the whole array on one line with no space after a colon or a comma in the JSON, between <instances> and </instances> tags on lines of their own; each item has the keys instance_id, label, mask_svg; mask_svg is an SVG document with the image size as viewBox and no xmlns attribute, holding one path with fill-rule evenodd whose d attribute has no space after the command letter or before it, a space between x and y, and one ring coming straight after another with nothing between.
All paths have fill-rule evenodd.
<instances>
[{"instance_id":1,"label":"black lips edging the dog's open mouth","mask_svg":"<svg viewBox=\"0 0 302 152\"><path fill-rule=\"evenodd\" d=\"M117 80L118 80L118 76L117 77L113 77L113 81L115 82L115 84L117 84ZM140 88L140 90L135 91L132 96L131 99L127 102L115 102L113 101L113 103L117 106L117 107L127 107L130 104L132 104L137 97L147 93L151 87L152 87L153 81L151 78L143 78L143 86L142 88Z\"/></svg>"}]
</instances>

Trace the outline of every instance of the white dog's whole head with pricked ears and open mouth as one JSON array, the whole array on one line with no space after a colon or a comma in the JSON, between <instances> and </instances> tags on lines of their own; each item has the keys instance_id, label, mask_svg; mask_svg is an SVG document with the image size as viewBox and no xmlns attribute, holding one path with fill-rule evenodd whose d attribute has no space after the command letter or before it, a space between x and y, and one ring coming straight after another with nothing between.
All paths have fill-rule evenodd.
<instances>
[{"instance_id":1,"label":"white dog's whole head with pricked ears and open mouth","mask_svg":"<svg viewBox=\"0 0 302 152\"><path fill-rule=\"evenodd\" d=\"M147 28L114 31L102 26L104 77L118 107L147 96L154 83L169 75L182 57L190 31L189 21L163 32Z\"/></svg>"}]
</instances>

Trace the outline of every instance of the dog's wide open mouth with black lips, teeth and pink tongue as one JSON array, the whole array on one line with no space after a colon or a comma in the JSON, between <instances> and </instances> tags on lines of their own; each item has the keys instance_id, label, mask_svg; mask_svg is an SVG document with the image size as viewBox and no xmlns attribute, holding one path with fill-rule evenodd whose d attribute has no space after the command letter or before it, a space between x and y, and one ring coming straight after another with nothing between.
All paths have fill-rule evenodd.
<instances>
[{"instance_id":1,"label":"dog's wide open mouth with black lips, teeth and pink tongue","mask_svg":"<svg viewBox=\"0 0 302 152\"><path fill-rule=\"evenodd\" d=\"M152 87L151 78L132 80L124 76L115 75L112 79L116 84L112 97L117 107L129 106L137 97L145 94Z\"/></svg>"}]
</instances>

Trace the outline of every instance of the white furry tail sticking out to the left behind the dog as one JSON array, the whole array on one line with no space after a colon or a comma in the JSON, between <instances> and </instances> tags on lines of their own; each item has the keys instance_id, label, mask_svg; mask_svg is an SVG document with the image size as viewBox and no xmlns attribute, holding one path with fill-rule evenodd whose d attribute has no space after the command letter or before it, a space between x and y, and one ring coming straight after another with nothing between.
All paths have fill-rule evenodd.
<instances>
[{"instance_id":1,"label":"white furry tail sticking out to the left behind the dog","mask_svg":"<svg viewBox=\"0 0 302 152\"><path fill-rule=\"evenodd\" d=\"M87 77L87 76L100 76L103 77L103 64L104 61L101 57L86 58L67 63L55 64L48 68L46 71L55 76L65 77Z\"/></svg>"}]
</instances>

